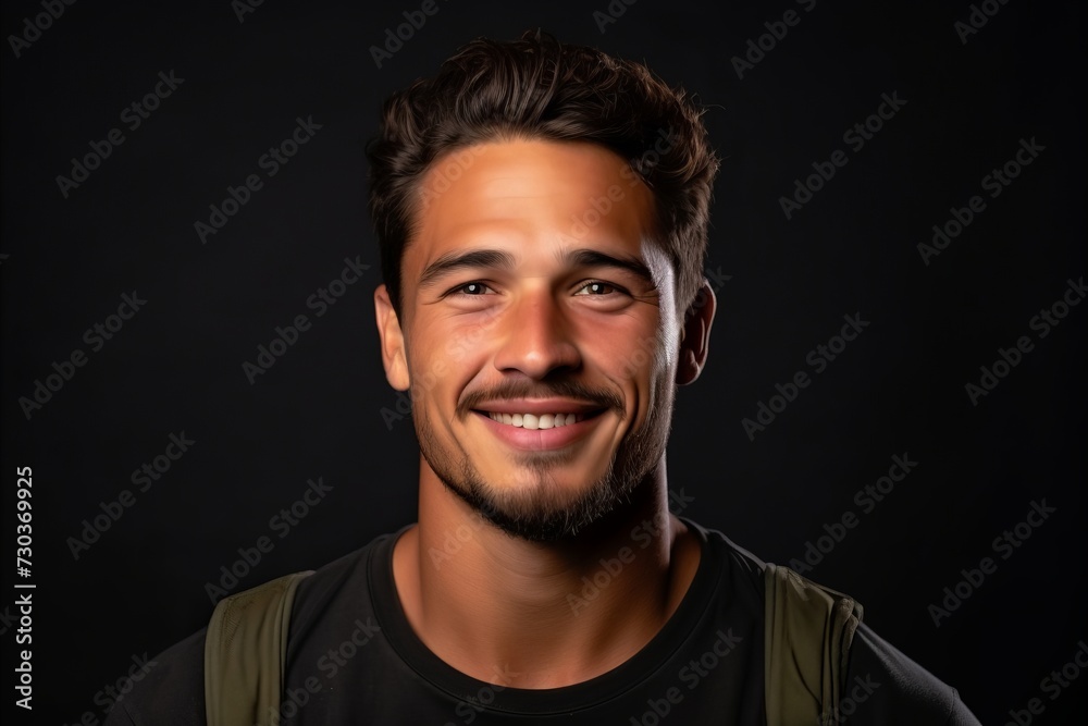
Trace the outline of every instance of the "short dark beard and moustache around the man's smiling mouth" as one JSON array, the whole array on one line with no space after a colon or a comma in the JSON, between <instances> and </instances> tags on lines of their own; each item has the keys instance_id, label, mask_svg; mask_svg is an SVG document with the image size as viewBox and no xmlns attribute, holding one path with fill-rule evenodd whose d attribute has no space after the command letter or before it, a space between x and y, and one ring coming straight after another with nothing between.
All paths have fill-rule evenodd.
<instances>
[{"instance_id":1,"label":"short dark beard and moustache around the man's smiling mouth","mask_svg":"<svg viewBox=\"0 0 1088 726\"><path fill-rule=\"evenodd\" d=\"M510 466L528 470L530 481L517 487L496 487L486 481L461 451L445 446L434 433L423 407L412 407L420 453L445 487L500 530L532 542L555 542L572 538L601 520L621 503L630 501L640 484L651 479L660 465L672 421L676 387L671 378L660 376L653 389L645 423L628 432L611 455L604 473L577 492L565 491L555 480L556 468L574 458L569 448L551 452L519 452L510 455ZM611 392L588 389L573 382L537 385L514 384L468 395L457 407L457 417L474 416L472 408L496 398L565 396L599 404L604 411L627 418L622 399Z\"/></svg>"}]
</instances>

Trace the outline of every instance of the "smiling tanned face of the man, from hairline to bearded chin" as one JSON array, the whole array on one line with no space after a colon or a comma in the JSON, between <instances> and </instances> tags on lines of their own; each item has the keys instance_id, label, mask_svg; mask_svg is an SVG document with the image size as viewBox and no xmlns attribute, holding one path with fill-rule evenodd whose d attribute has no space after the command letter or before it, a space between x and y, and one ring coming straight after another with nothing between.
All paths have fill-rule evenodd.
<instances>
[{"instance_id":1,"label":"smiling tanned face of the man, from hairline to bearded chin","mask_svg":"<svg viewBox=\"0 0 1088 726\"><path fill-rule=\"evenodd\" d=\"M652 193L603 147L506 140L419 199L399 328L379 318L426 466L512 534L571 536L664 462L680 328Z\"/></svg>"}]
</instances>

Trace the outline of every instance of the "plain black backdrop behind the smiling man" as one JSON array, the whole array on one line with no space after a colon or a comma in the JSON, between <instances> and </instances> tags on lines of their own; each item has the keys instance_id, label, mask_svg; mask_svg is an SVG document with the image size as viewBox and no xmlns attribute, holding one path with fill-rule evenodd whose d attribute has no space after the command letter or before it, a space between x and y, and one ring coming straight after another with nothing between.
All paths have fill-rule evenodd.
<instances>
[{"instance_id":1,"label":"plain black backdrop behind the smiling man","mask_svg":"<svg viewBox=\"0 0 1088 726\"><path fill-rule=\"evenodd\" d=\"M4 709L23 723L102 716L96 692L201 627L205 585L321 477L329 495L242 579L319 566L415 517L417 454L384 380L364 144L382 99L478 35L542 26L644 60L708 108L724 157L707 268L719 310L703 378L681 391L670 483L684 515L786 563L843 513L860 524L808 575L850 592L880 633L956 686L984 723L1041 698L1038 723L1083 723L1081 675L1040 681L1085 638L1085 319L1040 339L1033 316L1085 273L1085 10L1010 0L962 42L967 2L718 8L640 0L604 25L597 2L438 0L378 67L371 46L416 2L78 2L3 58L2 546ZM738 77L731 58L794 9L800 23ZM9 2L5 37L39 3ZM769 46L769 39L765 39ZM122 110L160 72L184 83L139 128ZM906 103L854 151L843 132L881 94ZM321 128L268 177L258 159L312 116ZM58 175L90 141L125 141L65 198ZM990 198L981 179L1021 139L1044 147ZM787 219L780 197L836 149L849 162ZM226 187L264 186L207 244L194 223ZM927 266L918 243L973 195L986 209ZM318 318L307 297L345 258L370 269ZM84 331L136 291L146 305L102 348ZM242 369L276 325L313 325L254 384ZM819 374L806 364L844 315L870 324ZM998 348L1034 349L973 405ZM27 418L51 364L88 354ZM742 428L799 370L812 383L754 441ZM171 433L196 443L146 492L131 472ZM893 455L918 466L870 513L854 494ZM10 618L15 469L33 467L34 712L14 701ZM135 504L89 550L69 538L100 503ZM1056 512L1002 559L992 541L1031 502ZM935 627L928 606L985 556L998 569Z\"/></svg>"}]
</instances>

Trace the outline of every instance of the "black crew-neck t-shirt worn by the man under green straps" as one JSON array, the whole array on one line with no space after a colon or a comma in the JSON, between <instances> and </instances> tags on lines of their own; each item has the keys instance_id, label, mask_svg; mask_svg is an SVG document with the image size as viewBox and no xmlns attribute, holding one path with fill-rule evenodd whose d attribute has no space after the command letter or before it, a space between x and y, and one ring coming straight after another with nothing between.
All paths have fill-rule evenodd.
<instances>
[{"instance_id":1,"label":"black crew-neck t-shirt worn by the man under green straps","mask_svg":"<svg viewBox=\"0 0 1088 726\"><path fill-rule=\"evenodd\" d=\"M721 533L688 524L703 556L665 627L613 670L543 690L477 680L429 651L396 595L397 538L381 537L299 587L281 723L763 726L763 563ZM158 655L107 726L205 724L203 642L201 630ZM978 725L955 690L864 624L843 696L851 726Z\"/></svg>"}]
</instances>

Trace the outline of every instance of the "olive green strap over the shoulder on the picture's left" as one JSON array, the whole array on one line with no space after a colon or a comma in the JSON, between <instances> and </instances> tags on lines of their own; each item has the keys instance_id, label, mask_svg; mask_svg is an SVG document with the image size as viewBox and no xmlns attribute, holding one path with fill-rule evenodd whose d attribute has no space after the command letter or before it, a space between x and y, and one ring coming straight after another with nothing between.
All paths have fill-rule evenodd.
<instances>
[{"instance_id":1,"label":"olive green strap over the shoulder on the picture's left","mask_svg":"<svg viewBox=\"0 0 1088 726\"><path fill-rule=\"evenodd\" d=\"M205 640L208 726L279 724L290 610L310 575L285 575L215 605Z\"/></svg>"}]
</instances>

